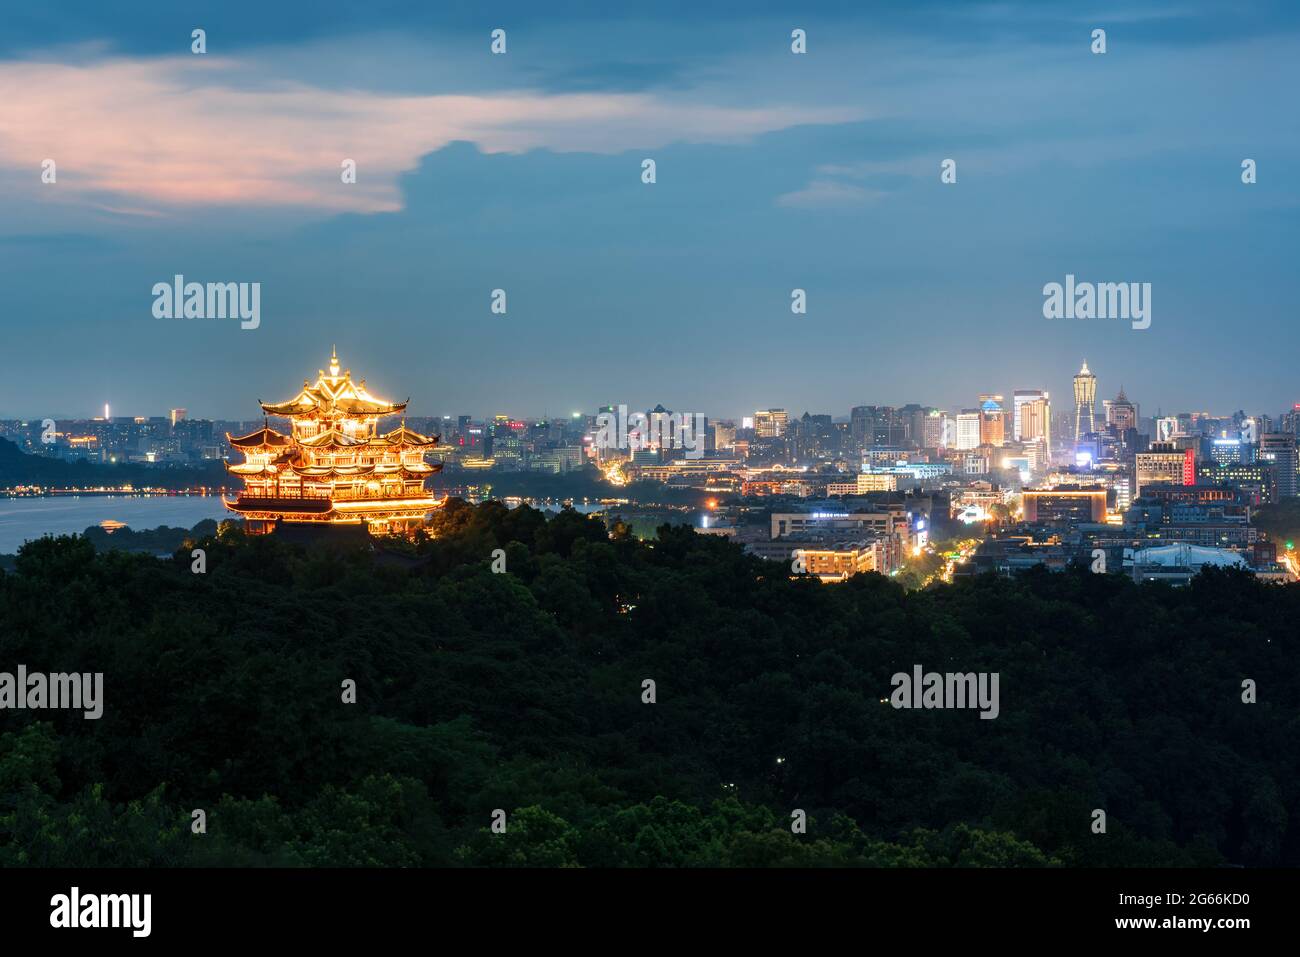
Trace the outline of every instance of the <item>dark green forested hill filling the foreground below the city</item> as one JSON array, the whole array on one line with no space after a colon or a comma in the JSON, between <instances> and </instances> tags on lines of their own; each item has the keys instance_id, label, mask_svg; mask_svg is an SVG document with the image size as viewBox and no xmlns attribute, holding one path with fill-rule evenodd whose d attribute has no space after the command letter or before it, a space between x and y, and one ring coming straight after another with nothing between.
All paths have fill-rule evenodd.
<instances>
[{"instance_id":1,"label":"dark green forested hill filling the foreground below the city","mask_svg":"<svg viewBox=\"0 0 1300 957\"><path fill-rule=\"evenodd\" d=\"M224 529L202 575L26 546L0 671L101 671L104 715L0 713L0 865L1300 863L1300 586L820 585L458 501L433 532ZM997 672L998 716L896 710L914 664Z\"/></svg>"}]
</instances>

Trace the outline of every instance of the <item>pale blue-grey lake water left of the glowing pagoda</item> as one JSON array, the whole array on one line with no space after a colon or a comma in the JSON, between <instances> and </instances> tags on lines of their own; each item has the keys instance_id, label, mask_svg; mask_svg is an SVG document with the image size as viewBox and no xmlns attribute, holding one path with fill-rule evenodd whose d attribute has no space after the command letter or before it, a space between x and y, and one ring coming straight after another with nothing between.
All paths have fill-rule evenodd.
<instances>
[{"instance_id":1,"label":"pale blue-grey lake water left of the glowing pagoda","mask_svg":"<svg viewBox=\"0 0 1300 957\"><path fill-rule=\"evenodd\" d=\"M12 555L25 541L43 534L79 534L109 519L144 531L194 528L204 519L229 518L234 512L221 505L220 495L0 495L0 555Z\"/></svg>"}]
</instances>

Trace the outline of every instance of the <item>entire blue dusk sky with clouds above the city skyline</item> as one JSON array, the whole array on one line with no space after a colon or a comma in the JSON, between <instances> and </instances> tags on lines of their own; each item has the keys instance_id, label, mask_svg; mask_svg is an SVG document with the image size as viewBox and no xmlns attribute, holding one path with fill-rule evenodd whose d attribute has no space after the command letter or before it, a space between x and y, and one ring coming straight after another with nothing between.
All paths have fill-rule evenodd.
<instances>
[{"instance_id":1,"label":"entire blue dusk sky with clouds above the city skyline","mask_svg":"<svg viewBox=\"0 0 1300 957\"><path fill-rule=\"evenodd\" d=\"M178 7L5 12L0 417L252 419L333 345L415 415L1300 402L1297 4Z\"/></svg>"}]
</instances>

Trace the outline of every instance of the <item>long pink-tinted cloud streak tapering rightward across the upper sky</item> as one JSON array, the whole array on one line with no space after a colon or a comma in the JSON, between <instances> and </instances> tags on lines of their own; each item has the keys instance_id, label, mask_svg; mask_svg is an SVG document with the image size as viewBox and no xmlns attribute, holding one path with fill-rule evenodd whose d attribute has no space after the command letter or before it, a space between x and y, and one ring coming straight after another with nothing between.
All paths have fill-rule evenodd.
<instances>
[{"instance_id":1,"label":"long pink-tinted cloud streak tapering rightward across the upper sky","mask_svg":"<svg viewBox=\"0 0 1300 957\"><path fill-rule=\"evenodd\" d=\"M214 56L0 64L0 166L35 182L53 159L61 198L100 194L101 208L127 198L136 213L139 203L382 212L402 207L398 176L454 140L612 153L861 118L644 94L411 96L256 79ZM356 161L355 185L341 182L344 159Z\"/></svg>"}]
</instances>

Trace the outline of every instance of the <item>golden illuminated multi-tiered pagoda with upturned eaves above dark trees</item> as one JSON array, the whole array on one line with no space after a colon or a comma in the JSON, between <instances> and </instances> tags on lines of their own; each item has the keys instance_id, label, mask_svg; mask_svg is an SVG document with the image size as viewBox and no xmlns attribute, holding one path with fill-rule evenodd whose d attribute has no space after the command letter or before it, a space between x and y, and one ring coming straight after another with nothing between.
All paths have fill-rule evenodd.
<instances>
[{"instance_id":1,"label":"golden illuminated multi-tiered pagoda with upturned eaves above dark trees","mask_svg":"<svg viewBox=\"0 0 1300 957\"><path fill-rule=\"evenodd\" d=\"M424 524L438 499L425 480L442 464L424 456L438 443L402 425L380 434L380 419L406 411L406 402L385 402L365 390L365 380L339 373L337 351L329 374L289 402L261 402L266 416L289 419L290 434L276 432L269 419L256 432L231 437L243 452L226 469L244 482L235 501L250 532L270 532L280 523L364 525L374 533L404 532Z\"/></svg>"}]
</instances>

